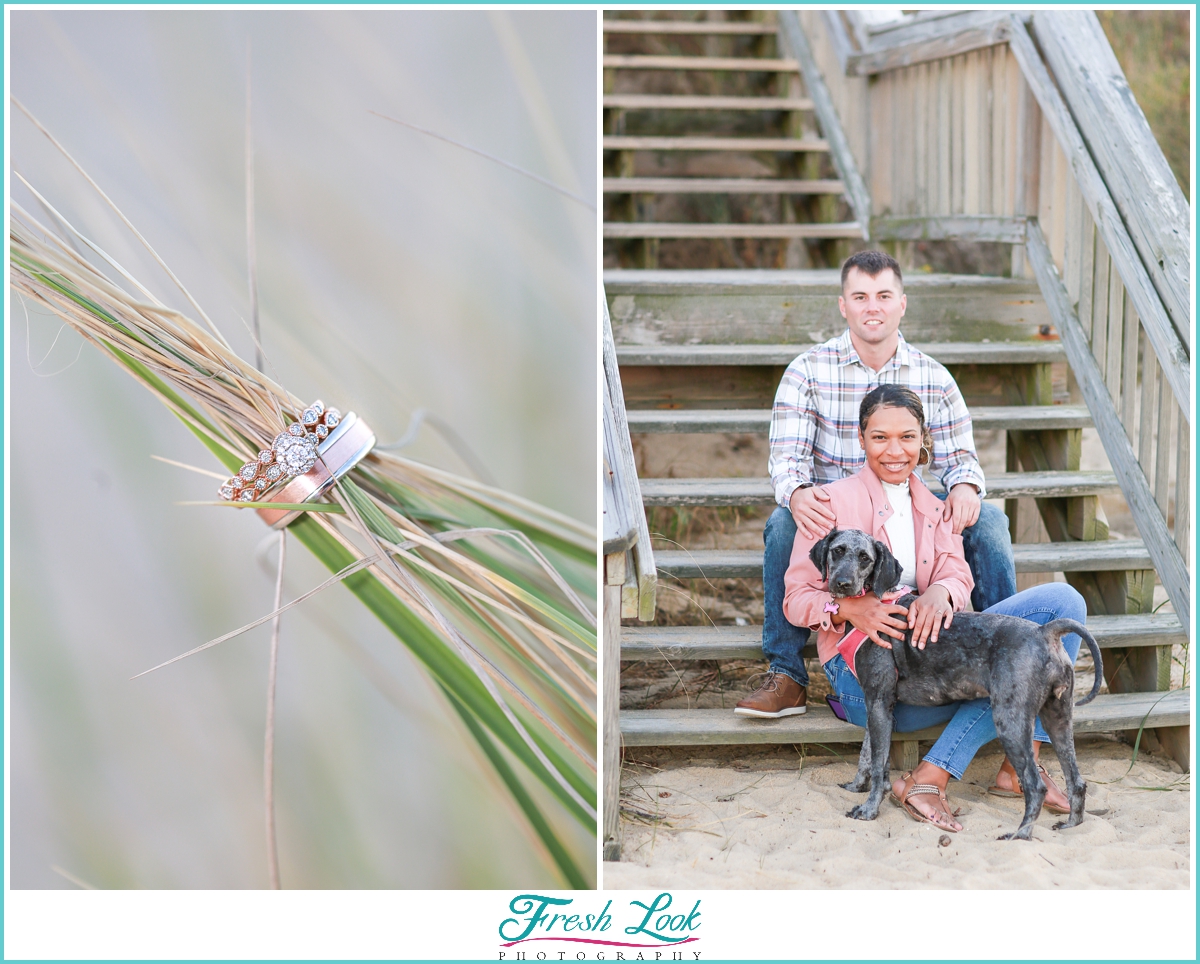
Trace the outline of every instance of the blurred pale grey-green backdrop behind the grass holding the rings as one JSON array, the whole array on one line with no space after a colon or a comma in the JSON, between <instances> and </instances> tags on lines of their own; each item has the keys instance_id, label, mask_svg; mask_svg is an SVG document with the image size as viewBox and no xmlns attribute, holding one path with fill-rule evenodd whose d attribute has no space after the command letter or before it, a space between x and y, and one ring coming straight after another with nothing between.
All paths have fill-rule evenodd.
<instances>
[{"instance_id":1,"label":"blurred pale grey-green backdrop behind the grass holding the rings","mask_svg":"<svg viewBox=\"0 0 1200 964\"><path fill-rule=\"evenodd\" d=\"M503 487L593 522L594 212L367 112L594 197L595 14L12 13L13 95L253 358L247 44L272 373L380 441L425 407ZM185 309L53 146L10 125L13 167ZM262 887L269 627L128 677L269 611L266 529L176 505L215 483L150 455L211 456L56 319L26 322L13 298L8 317L12 886L72 886L60 867L97 887ZM469 474L428 426L406 454ZM286 598L322 579L293 541ZM454 712L344 589L283 617L277 714L286 887L559 882ZM594 840L556 830L590 867Z\"/></svg>"}]
</instances>

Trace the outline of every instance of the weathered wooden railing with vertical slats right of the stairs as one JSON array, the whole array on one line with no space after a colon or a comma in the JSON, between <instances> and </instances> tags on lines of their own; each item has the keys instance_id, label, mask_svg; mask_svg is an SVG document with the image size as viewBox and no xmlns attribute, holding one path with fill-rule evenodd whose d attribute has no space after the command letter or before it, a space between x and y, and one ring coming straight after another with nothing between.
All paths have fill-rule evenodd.
<instances>
[{"instance_id":1,"label":"weathered wooden railing with vertical slats right of the stairs","mask_svg":"<svg viewBox=\"0 0 1200 964\"><path fill-rule=\"evenodd\" d=\"M871 238L1008 241L1037 279L1190 635L1190 211L1094 14L779 19Z\"/></svg>"}]
</instances>

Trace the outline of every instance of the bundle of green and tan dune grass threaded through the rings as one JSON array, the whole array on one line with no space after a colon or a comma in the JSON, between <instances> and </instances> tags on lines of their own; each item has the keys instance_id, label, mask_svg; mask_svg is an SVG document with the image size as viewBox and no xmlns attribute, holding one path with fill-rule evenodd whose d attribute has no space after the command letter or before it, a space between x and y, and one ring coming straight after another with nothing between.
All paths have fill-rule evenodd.
<instances>
[{"instance_id":1,"label":"bundle of green and tan dune grass threaded through the rings","mask_svg":"<svg viewBox=\"0 0 1200 964\"><path fill-rule=\"evenodd\" d=\"M233 352L95 181L88 178L199 321L168 307L17 178L52 218L47 224L12 205L11 285L20 297L61 317L124 366L230 473L299 417L305 403ZM371 413L361 415L370 420ZM563 812L595 833L595 532L492 486L384 451L368 455L328 499L288 532L336 575L328 585L344 583L416 657L563 881L590 886L590 855L580 860L570 852L554 832L554 814L539 807L526 782L542 784Z\"/></svg>"}]
</instances>

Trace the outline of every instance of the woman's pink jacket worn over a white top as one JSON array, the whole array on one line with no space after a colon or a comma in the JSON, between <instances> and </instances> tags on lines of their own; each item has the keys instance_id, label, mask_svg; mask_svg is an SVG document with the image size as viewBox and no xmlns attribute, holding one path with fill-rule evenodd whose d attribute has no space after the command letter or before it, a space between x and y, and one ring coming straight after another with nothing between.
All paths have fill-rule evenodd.
<instances>
[{"instance_id":1,"label":"woman's pink jacket worn over a white top","mask_svg":"<svg viewBox=\"0 0 1200 964\"><path fill-rule=\"evenodd\" d=\"M863 466L854 475L839 479L824 486L829 493L829 505L838 519L840 529L862 529L892 547L883 523L892 517L883 486L869 466ZM954 534L950 522L943 521L946 508L925 484L912 475L908 479L912 495L912 516L917 546L917 592L930 586L944 586L950 593L950 604L958 612L966 609L974 588L971 569L962 555L962 537ZM828 663L838 654L838 641L846 631L846 623L835 627L824 611L833 597L826 589L824 574L809 558L809 550L817 539L808 539L796 533L792 561L784 576L784 615L792 625L806 625L817 631L817 655Z\"/></svg>"}]
</instances>

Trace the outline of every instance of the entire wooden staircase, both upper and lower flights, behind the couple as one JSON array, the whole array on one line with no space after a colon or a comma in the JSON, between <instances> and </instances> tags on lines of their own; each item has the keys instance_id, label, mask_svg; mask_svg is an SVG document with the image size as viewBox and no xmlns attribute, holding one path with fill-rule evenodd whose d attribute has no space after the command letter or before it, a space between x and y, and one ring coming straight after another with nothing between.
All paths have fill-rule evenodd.
<instances>
[{"instance_id":1,"label":"entire wooden staircase, both upper and lower flights, behind the couple","mask_svg":"<svg viewBox=\"0 0 1200 964\"><path fill-rule=\"evenodd\" d=\"M604 282L622 417L644 447L664 435L764 436L786 365L805 346L845 329L836 307L835 267L850 251L880 241L863 241L863 220L852 216L845 179L830 164L833 138L818 128L814 100L770 20L732 19L752 14L719 12L707 14L719 19L683 12L646 16L654 19L605 20L606 52L613 53L604 60ZM656 79L664 72L690 79L671 86ZM689 151L708 151L709 160L677 160ZM751 168L755 173L746 174ZM756 205L739 206L744 197L756 198ZM1007 228L1016 232L1012 238L1024 238L1024 222L1012 223L1018 224ZM707 247L695 239L704 239ZM748 239L757 239L757 246ZM893 250L904 262L905 249ZM1020 274L1024 249L1014 245L1014 274ZM731 265L738 270L714 270ZM780 270L796 265L799 269ZM661 270L667 267L680 270ZM1088 624L1105 654L1109 693L1078 711L1076 730L1145 728L1142 746L1157 732L1162 747L1187 766L1190 693L1168 693L1171 647L1187 645L1187 628L1172 612L1151 612L1156 573L1146 543L1110 538L1098 496L1121 486L1112 471L1081 469L1082 430L1092 426L1093 417L1067 391L1067 351L1039 282L920 274L908 274L905 281L906 339L954 375L971 408L977 442L982 431L1004 433L1007 471L990 473L988 487L989 498L1006 501L1018 573L1026 574L1026 582L1031 575L1045 581L1062 574L1087 600ZM1159 377L1159 391L1162 384ZM1146 391L1153 390L1148 382ZM1159 409L1169 411L1164 402ZM1128 411L1132 420L1132 405ZM647 508L774 505L766 466L756 478L638 481ZM1182 526L1186 529L1186 517ZM1050 541L1020 540L1038 528ZM666 581L761 583L762 552L660 547L654 564ZM638 609L636 592L631 598L629 603L629 594L623 597L625 623L619 630L626 666L762 659L761 627L640 625L631 622ZM815 655L810 646L805 657ZM862 737L859 729L811 703L803 717L773 721L737 718L731 708L629 708L619 717L625 747L828 744ZM917 741L935 736L906 735L894 748L895 764L911 766ZM606 838L611 836L606 825Z\"/></svg>"}]
</instances>

